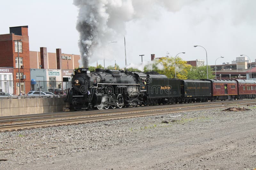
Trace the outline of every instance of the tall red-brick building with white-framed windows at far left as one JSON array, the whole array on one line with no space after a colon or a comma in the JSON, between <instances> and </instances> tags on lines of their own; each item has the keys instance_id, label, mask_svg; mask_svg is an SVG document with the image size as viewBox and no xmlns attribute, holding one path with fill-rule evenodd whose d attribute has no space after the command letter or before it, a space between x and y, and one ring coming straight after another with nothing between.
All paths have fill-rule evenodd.
<instances>
[{"instance_id":1,"label":"tall red-brick building with white-framed windows at far left","mask_svg":"<svg viewBox=\"0 0 256 170\"><path fill-rule=\"evenodd\" d=\"M21 40L17 44L17 41ZM18 67L18 50L20 54L20 80ZM28 26L10 27L9 34L0 35L0 67L13 68L13 93L19 95L30 90L30 85L24 82L30 80L30 58ZM23 76L24 75L24 76ZM21 88L21 90L19 89Z\"/></svg>"}]
</instances>

